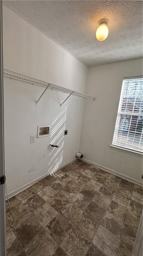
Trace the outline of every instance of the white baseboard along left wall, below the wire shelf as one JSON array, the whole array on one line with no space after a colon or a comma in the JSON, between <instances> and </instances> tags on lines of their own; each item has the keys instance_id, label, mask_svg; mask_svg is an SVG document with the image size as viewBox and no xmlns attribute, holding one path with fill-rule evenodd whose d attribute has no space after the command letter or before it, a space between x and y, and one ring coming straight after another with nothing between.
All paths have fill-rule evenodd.
<instances>
[{"instance_id":1,"label":"white baseboard along left wall, below the wire shelf","mask_svg":"<svg viewBox=\"0 0 143 256\"><path fill-rule=\"evenodd\" d=\"M67 163L65 163L65 164L63 164L63 165L60 165L57 170L59 170L60 168L66 166L66 165L69 165L69 164L73 163L76 159L77 159L77 158L74 158L74 159L68 161ZM18 188L18 189L16 189L16 190L10 192L10 193L8 194L8 198L11 198L11 197L17 195L18 193L22 192L23 190L25 190L25 189L31 187L34 183L36 183L37 181L39 181L39 180L45 178L46 176L47 176L47 173L44 174L44 175L42 175L42 176L40 176L40 177L38 177L38 178L36 178L35 180L33 180L33 181L29 182L29 183L27 183L26 185L24 185L24 186L22 186L22 187L20 187L20 188ZM6 197L6 198L7 198L7 197Z\"/></svg>"}]
</instances>

